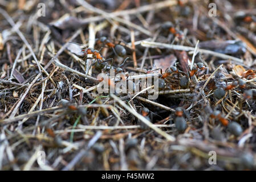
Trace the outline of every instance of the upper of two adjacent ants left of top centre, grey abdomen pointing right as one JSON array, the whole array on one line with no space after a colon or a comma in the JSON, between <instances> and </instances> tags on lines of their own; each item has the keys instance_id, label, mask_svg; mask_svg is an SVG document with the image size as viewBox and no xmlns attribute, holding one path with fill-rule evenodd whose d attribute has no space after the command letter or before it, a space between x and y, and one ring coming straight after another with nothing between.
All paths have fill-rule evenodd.
<instances>
[{"instance_id":1,"label":"upper of two adjacent ants left of top centre, grey abdomen pointing right","mask_svg":"<svg viewBox=\"0 0 256 182\"><path fill-rule=\"evenodd\" d=\"M99 40L97 40L97 44L105 44L107 47L112 48L115 55L124 57L126 55L126 49L124 46L120 44L113 44L108 38L102 36Z\"/></svg>"}]
</instances>

